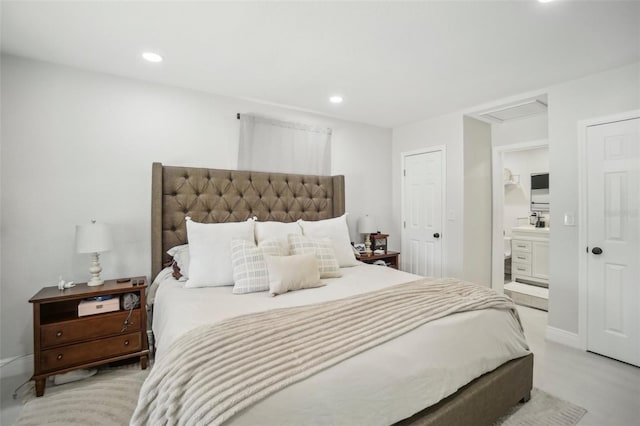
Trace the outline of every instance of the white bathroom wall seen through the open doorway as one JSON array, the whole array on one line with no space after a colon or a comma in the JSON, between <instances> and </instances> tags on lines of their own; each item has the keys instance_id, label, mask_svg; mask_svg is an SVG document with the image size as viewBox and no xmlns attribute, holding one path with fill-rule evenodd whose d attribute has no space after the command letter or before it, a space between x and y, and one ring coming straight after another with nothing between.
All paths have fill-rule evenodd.
<instances>
[{"instance_id":1,"label":"white bathroom wall seen through the open doorway","mask_svg":"<svg viewBox=\"0 0 640 426\"><path fill-rule=\"evenodd\" d=\"M512 227L528 223L518 218L528 218L531 213L531 173L549 172L549 148L505 152L503 162L520 179L517 185L504 185L503 229L511 236Z\"/></svg>"}]
</instances>

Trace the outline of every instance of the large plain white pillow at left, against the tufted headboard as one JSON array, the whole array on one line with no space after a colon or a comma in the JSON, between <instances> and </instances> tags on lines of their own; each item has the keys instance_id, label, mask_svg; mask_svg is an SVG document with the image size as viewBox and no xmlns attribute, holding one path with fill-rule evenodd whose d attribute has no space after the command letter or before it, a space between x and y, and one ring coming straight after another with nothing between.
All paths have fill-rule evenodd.
<instances>
[{"instance_id":1,"label":"large plain white pillow at left, against the tufted headboard","mask_svg":"<svg viewBox=\"0 0 640 426\"><path fill-rule=\"evenodd\" d=\"M231 240L253 241L253 220L228 223L198 223L187 218L189 279L185 287L233 285Z\"/></svg>"}]
</instances>

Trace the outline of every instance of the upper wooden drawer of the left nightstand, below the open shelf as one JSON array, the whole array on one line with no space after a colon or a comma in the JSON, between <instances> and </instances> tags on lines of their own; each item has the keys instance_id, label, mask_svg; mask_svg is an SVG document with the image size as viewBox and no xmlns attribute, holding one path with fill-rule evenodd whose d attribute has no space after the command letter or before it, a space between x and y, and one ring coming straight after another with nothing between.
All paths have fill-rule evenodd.
<instances>
[{"instance_id":1,"label":"upper wooden drawer of the left nightstand, below the open shelf","mask_svg":"<svg viewBox=\"0 0 640 426\"><path fill-rule=\"evenodd\" d=\"M111 336L122 331L129 311L100 314L92 318L47 324L40 327L40 344L43 348L80 342L102 336ZM140 330L140 310L135 309L129 318L127 332Z\"/></svg>"}]
</instances>

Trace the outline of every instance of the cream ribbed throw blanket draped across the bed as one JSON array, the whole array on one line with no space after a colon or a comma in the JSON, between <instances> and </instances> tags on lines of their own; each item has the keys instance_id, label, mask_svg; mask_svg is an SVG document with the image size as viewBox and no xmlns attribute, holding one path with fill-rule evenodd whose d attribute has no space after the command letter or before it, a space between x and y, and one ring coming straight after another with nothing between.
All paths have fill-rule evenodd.
<instances>
[{"instance_id":1,"label":"cream ribbed throw blanket draped across the bed","mask_svg":"<svg viewBox=\"0 0 640 426\"><path fill-rule=\"evenodd\" d=\"M429 321L485 308L510 310L517 318L508 297L443 279L202 326L176 340L154 365L131 424L221 424L292 383Z\"/></svg>"}]
</instances>

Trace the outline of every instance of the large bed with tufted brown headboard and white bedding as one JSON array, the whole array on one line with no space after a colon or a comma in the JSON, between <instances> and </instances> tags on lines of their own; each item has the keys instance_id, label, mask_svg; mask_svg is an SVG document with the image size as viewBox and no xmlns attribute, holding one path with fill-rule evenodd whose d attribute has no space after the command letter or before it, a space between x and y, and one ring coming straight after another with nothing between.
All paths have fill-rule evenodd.
<instances>
[{"instance_id":1,"label":"large bed with tufted brown headboard and white bedding","mask_svg":"<svg viewBox=\"0 0 640 426\"><path fill-rule=\"evenodd\" d=\"M187 242L185 217L203 223L318 221L344 214L343 176L163 166L152 168L153 330L156 359L206 322L315 306L386 291L419 277L358 264L317 289L275 298L229 287L185 289L163 268ZM302 309L302 308L300 308ZM506 319L509 317L511 319ZM513 316L496 309L437 319L262 398L231 424L492 424L527 401L533 355ZM438 348L438 349L434 349ZM469 353L478 356L469 357ZM309 397L313 395L313 397Z\"/></svg>"}]
</instances>

